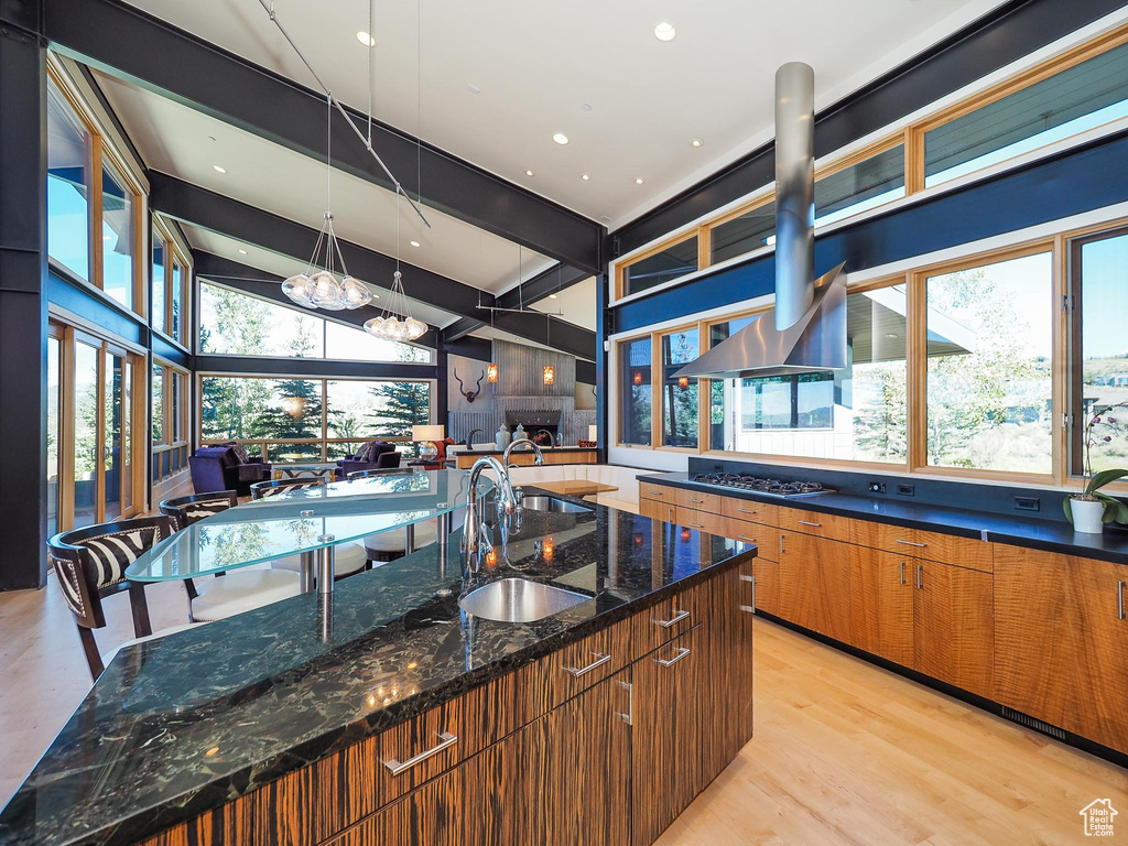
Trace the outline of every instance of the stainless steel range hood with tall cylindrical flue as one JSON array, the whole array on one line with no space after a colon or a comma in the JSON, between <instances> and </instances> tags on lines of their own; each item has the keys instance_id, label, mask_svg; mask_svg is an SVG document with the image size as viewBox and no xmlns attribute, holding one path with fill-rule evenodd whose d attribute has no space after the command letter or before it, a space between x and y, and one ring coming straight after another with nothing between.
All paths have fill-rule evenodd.
<instances>
[{"instance_id":1,"label":"stainless steel range hood with tall cylindrical flue","mask_svg":"<svg viewBox=\"0 0 1128 846\"><path fill-rule=\"evenodd\" d=\"M814 71L776 71L776 301L676 377L747 378L846 367L845 262L814 279Z\"/></svg>"}]
</instances>

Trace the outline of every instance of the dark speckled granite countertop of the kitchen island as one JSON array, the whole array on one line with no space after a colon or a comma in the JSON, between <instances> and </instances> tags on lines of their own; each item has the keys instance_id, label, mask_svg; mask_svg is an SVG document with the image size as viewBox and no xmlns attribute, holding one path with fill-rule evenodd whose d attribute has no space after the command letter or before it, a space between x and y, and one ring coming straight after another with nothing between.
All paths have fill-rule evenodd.
<instances>
[{"instance_id":1,"label":"dark speckled granite countertop of the kitchen island","mask_svg":"<svg viewBox=\"0 0 1128 846\"><path fill-rule=\"evenodd\" d=\"M457 536L449 574L431 546L337 582L328 642L318 597L305 594L123 650L0 812L0 843L156 834L756 554L583 504L591 511L526 510L508 557L473 584ZM548 537L546 554L537 541ZM460 613L461 591L514 574L591 600L529 624Z\"/></svg>"}]
</instances>

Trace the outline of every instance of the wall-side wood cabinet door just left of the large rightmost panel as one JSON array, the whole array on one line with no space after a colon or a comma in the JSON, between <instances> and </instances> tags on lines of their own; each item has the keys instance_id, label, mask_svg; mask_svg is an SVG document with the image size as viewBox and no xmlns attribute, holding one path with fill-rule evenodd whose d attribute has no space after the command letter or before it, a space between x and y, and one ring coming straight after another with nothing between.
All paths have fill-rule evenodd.
<instances>
[{"instance_id":1,"label":"wall-side wood cabinet door just left of the large rightmost panel","mask_svg":"<svg viewBox=\"0 0 1128 846\"><path fill-rule=\"evenodd\" d=\"M913 594L916 670L990 697L995 690L990 574L917 558Z\"/></svg>"}]
</instances>

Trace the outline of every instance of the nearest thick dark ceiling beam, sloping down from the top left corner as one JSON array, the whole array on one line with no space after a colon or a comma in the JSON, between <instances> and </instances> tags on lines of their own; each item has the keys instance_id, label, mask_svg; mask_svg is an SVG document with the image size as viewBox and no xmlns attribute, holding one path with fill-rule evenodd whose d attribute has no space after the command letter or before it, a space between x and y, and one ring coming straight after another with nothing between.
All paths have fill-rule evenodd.
<instances>
[{"instance_id":1,"label":"nearest thick dark ceiling beam, sloping down from the top left corner","mask_svg":"<svg viewBox=\"0 0 1128 846\"><path fill-rule=\"evenodd\" d=\"M323 94L122 0L43 0L43 6L46 36L60 52L291 150L325 159ZM262 15L266 25L266 12ZM364 120L349 111L358 122ZM331 126L334 166L390 188L344 117L334 113ZM557 261L599 271L606 233L599 223L379 122L372 124L372 147L413 196L420 193L416 175L422 173L426 205Z\"/></svg>"}]
</instances>

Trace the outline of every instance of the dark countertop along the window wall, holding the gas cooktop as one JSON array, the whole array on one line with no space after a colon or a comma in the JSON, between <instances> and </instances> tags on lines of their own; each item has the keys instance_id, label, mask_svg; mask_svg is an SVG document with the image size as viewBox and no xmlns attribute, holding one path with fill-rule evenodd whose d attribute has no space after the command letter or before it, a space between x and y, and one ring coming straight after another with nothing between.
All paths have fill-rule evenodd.
<instances>
[{"instance_id":1,"label":"dark countertop along the window wall, holding the gas cooktop","mask_svg":"<svg viewBox=\"0 0 1128 846\"><path fill-rule=\"evenodd\" d=\"M1107 527L1101 535L1090 535L1074 531L1073 526L1065 520L972 511L950 505L898 502L878 496L844 493L770 496L693 482L688 473L666 473L645 478L647 484L705 491L740 500L768 502L786 508L863 518L893 526L942 531L998 544L1013 544L1032 549L1128 564L1128 531L1116 527Z\"/></svg>"}]
</instances>

